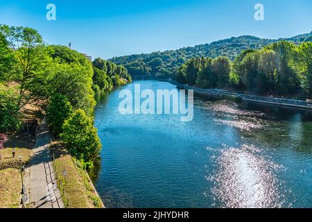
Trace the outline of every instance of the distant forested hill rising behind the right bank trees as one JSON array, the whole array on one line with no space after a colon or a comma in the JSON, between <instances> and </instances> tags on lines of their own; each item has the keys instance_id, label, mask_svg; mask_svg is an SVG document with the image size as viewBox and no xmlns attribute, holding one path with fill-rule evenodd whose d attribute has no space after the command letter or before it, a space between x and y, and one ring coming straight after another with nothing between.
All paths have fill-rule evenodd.
<instances>
[{"instance_id":1,"label":"distant forested hill rising behind the right bank trees","mask_svg":"<svg viewBox=\"0 0 312 222\"><path fill-rule=\"evenodd\" d=\"M312 41L312 32L290 38L280 38L278 40L261 39L251 35L243 35L211 42L211 44L200 44L177 50L114 57L110 59L110 61L117 65L125 66L131 76L156 76L159 78L167 78L190 58L196 56L211 58L227 56L230 60L234 60L234 58L245 49L261 49L263 46L281 40L294 42L295 44Z\"/></svg>"}]
</instances>

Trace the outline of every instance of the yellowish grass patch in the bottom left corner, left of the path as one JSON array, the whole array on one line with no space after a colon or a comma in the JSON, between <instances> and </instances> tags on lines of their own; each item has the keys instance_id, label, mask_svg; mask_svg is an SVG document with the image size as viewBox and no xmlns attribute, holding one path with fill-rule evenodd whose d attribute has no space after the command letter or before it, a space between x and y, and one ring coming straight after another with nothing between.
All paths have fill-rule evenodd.
<instances>
[{"instance_id":1,"label":"yellowish grass patch in the bottom left corner, left of the path","mask_svg":"<svg viewBox=\"0 0 312 222\"><path fill-rule=\"evenodd\" d=\"M0 208L17 208L21 202L21 174L18 169L0 170Z\"/></svg>"}]
</instances>

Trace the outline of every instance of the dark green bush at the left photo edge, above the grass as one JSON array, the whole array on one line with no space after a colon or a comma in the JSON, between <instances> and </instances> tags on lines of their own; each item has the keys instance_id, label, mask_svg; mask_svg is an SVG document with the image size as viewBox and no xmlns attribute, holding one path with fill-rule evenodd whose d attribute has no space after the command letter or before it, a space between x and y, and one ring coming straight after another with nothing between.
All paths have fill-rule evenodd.
<instances>
[{"instance_id":1,"label":"dark green bush at the left photo edge, above the grass","mask_svg":"<svg viewBox=\"0 0 312 222\"><path fill-rule=\"evenodd\" d=\"M19 121L19 96L13 89L6 89L0 85L0 132L18 130Z\"/></svg>"}]
</instances>

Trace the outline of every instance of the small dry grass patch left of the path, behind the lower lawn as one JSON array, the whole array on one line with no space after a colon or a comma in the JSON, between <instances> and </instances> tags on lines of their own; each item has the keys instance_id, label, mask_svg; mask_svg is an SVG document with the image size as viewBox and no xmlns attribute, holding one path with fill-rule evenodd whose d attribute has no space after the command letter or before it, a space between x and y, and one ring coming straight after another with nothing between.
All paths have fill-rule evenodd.
<instances>
[{"instance_id":1,"label":"small dry grass patch left of the path, behind the lower lawn","mask_svg":"<svg viewBox=\"0 0 312 222\"><path fill-rule=\"evenodd\" d=\"M22 156L21 164L26 165L31 160L33 151L27 148L15 148L15 157L12 156L12 148L4 148L0 150L1 160L0 169L20 168L19 156Z\"/></svg>"}]
</instances>

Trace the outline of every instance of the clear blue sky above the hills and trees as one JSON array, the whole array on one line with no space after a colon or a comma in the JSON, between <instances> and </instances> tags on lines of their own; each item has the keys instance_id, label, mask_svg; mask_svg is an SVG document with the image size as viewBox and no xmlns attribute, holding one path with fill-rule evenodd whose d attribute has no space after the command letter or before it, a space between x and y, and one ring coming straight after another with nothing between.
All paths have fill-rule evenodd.
<instances>
[{"instance_id":1,"label":"clear blue sky above the hills and trees","mask_svg":"<svg viewBox=\"0 0 312 222\"><path fill-rule=\"evenodd\" d=\"M46 19L55 4L56 20ZM262 3L264 20L254 19ZM112 58L206 44L232 36L312 31L311 0L0 0L0 24L37 29L47 44Z\"/></svg>"}]
</instances>

